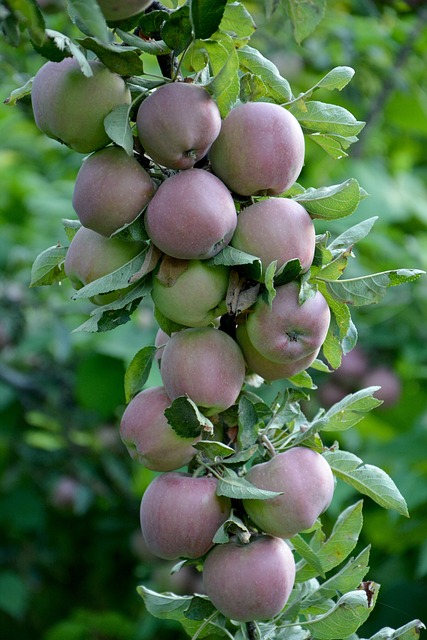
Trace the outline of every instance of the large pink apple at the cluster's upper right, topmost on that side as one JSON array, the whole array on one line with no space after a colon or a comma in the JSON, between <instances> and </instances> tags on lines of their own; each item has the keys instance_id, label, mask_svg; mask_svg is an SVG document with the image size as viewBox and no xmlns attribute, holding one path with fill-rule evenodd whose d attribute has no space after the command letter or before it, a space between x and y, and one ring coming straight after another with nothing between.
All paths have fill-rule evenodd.
<instances>
[{"instance_id":1,"label":"large pink apple at the cluster's upper right, topmost on that side","mask_svg":"<svg viewBox=\"0 0 427 640\"><path fill-rule=\"evenodd\" d=\"M246 102L228 113L209 158L215 175L235 193L279 195L304 164L304 134L284 107Z\"/></svg>"}]
</instances>

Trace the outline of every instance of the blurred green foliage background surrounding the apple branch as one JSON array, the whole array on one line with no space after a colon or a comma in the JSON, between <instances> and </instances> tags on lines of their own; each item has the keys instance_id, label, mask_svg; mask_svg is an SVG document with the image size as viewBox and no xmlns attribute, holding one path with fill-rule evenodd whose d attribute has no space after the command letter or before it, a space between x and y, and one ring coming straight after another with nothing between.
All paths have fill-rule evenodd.
<instances>
[{"instance_id":1,"label":"blurred green foliage background surrounding the apple branch","mask_svg":"<svg viewBox=\"0 0 427 640\"><path fill-rule=\"evenodd\" d=\"M350 157L331 160L307 143L303 186L356 177L370 194L350 220L322 226L333 235L378 216L354 249L348 274L427 270L427 10L424 2L330 1L326 18L301 46L282 7L246 3L258 24L252 39L305 91L337 65L356 75L342 93L316 99L347 107L367 122ZM47 17L66 28L61 14ZM30 45L0 45L2 100L41 66ZM138 584L191 593L199 578L174 577L139 534L139 501L152 478L118 437L123 375L156 327L149 304L108 334L73 333L89 303L69 283L29 288L34 258L66 242L81 156L41 135L28 100L0 108L0 629L13 640L151 640L184 637L151 618ZM385 469L411 518L365 500L359 546L372 543L369 578L381 583L361 637L425 613L427 597L427 285L390 289L375 307L354 309L359 359L332 376L317 374L307 412L345 393L383 384L384 405L340 435L365 462ZM354 354L353 354L354 355ZM357 366L359 368L357 368ZM355 368L356 367L356 368ZM361 367L361 368L360 368ZM155 369L148 385L158 384ZM274 397L279 383L265 392ZM332 434L334 435L334 434ZM334 438L326 444L332 444ZM327 519L355 500L338 486ZM366 634L364 636L363 634Z\"/></svg>"}]
</instances>

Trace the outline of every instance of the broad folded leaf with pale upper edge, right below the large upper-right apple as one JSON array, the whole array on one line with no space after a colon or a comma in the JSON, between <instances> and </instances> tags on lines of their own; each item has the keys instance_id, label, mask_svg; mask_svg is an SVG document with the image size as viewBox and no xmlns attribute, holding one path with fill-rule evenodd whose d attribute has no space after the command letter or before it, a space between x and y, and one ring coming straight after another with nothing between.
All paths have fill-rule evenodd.
<instances>
[{"instance_id":1,"label":"broad folded leaf with pale upper edge, right below the large upper-right apple","mask_svg":"<svg viewBox=\"0 0 427 640\"><path fill-rule=\"evenodd\" d=\"M341 184L320 189L307 189L293 198L314 218L337 220L351 215L361 199L359 183L350 178Z\"/></svg>"}]
</instances>

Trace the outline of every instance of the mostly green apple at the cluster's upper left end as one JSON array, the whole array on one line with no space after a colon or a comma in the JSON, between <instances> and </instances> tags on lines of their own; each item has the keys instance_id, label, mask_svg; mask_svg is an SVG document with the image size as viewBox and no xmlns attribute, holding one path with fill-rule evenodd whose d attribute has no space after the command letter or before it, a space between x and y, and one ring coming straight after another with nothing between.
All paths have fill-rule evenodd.
<instances>
[{"instance_id":1,"label":"mostly green apple at the cluster's upper left end","mask_svg":"<svg viewBox=\"0 0 427 640\"><path fill-rule=\"evenodd\" d=\"M104 118L115 107L131 102L123 78L101 62L93 60L89 65L90 78L74 58L46 62L36 73L31 90L39 129L79 153L91 153L111 142Z\"/></svg>"}]
</instances>

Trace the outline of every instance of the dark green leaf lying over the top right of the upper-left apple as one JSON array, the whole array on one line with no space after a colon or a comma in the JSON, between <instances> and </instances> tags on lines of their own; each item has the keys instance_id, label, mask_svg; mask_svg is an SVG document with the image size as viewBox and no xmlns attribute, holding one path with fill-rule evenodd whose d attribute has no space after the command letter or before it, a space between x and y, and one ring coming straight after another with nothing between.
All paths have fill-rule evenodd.
<instances>
[{"instance_id":1,"label":"dark green leaf lying over the top right of the upper-left apple","mask_svg":"<svg viewBox=\"0 0 427 640\"><path fill-rule=\"evenodd\" d=\"M129 46L102 42L96 38L78 38L85 49L93 51L101 62L121 76L142 75L144 67L137 51Z\"/></svg>"}]
</instances>

